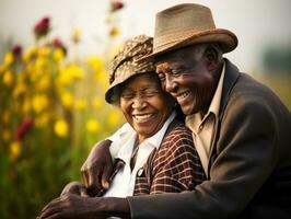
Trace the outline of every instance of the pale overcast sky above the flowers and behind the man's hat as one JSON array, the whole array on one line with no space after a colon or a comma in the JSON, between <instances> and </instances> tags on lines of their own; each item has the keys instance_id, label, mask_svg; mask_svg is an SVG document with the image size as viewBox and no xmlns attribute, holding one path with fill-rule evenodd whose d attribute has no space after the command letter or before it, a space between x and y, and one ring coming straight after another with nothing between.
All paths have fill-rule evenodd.
<instances>
[{"instance_id":1,"label":"pale overcast sky above the flowers and behind the man's hat","mask_svg":"<svg viewBox=\"0 0 291 219\"><path fill-rule=\"evenodd\" d=\"M260 53L269 45L291 45L290 0L125 0L118 13L123 38L153 34L156 12L183 2L196 2L212 10L217 27L238 37L238 47L226 54L242 71L259 68ZM109 0L0 0L0 46L13 36L14 43L33 44L32 27L40 18L51 18L51 35L69 41L71 30L82 32L81 54L101 53ZM2 49L0 49L1 51Z\"/></svg>"}]
</instances>

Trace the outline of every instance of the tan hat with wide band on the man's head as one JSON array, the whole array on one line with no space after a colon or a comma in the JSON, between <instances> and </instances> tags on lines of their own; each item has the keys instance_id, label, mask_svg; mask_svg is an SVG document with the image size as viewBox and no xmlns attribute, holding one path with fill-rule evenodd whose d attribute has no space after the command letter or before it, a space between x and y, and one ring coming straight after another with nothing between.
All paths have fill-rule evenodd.
<instances>
[{"instance_id":1,"label":"tan hat with wide band on the man's head","mask_svg":"<svg viewBox=\"0 0 291 219\"><path fill-rule=\"evenodd\" d=\"M156 14L153 53L141 60L200 43L218 43L223 53L229 53L237 46L237 37L231 31L216 27L209 8L177 4Z\"/></svg>"}]
</instances>

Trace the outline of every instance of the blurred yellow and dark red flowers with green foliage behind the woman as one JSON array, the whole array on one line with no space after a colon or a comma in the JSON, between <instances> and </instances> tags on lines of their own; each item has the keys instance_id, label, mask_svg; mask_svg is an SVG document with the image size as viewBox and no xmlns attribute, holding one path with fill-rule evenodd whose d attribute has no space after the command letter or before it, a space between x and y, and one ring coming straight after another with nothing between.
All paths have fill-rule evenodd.
<instances>
[{"instance_id":1,"label":"blurred yellow and dark red flowers with green foliage behind the woman","mask_svg":"<svg viewBox=\"0 0 291 219\"><path fill-rule=\"evenodd\" d=\"M1 219L36 218L68 182L81 180L93 143L123 122L104 101L110 57L81 59L80 32L73 32L72 48L67 48L49 38L51 30L49 18L40 20L35 44L14 46L0 62ZM108 32L108 41L118 35Z\"/></svg>"}]
</instances>

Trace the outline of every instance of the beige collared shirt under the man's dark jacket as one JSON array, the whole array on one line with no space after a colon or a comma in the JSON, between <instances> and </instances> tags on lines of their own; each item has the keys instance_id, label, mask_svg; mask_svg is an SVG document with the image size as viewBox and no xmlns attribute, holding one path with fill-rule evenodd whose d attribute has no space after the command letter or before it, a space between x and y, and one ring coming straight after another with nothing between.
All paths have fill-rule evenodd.
<instances>
[{"instance_id":1,"label":"beige collared shirt under the man's dark jacket","mask_svg":"<svg viewBox=\"0 0 291 219\"><path fill-rule=\"evenodd\" d=\"M214 126L218 122L224 74L225 62L223 61L223 68L219 79L218 88L205 117L202 118L200 112L186 117L186 126L193 131L194 145L207 175L210 146L213 137Z\"/></svg>"}]
</instances>

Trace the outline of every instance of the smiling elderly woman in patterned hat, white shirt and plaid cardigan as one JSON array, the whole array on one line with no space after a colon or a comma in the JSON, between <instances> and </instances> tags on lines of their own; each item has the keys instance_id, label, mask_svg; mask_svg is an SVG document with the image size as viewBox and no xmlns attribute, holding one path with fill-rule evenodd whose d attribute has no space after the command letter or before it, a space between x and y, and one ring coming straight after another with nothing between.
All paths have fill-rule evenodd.
<instances>
[{"instance_id":1,"label":"smiling elderly woman in patterned hat, white shirt and plaid cardigan","mask_svg":"<svg viewBox=\"0 0 291 219\"><path fill-rule=\"evenodd\" d=\"M109 209L110 197L191 191L205 180L191 132L176 118L175 102L162 91L155 67L136 62L151 51L152 38L140 35L113 60L105 99L120 108L130 127L110 146L118 148L110 186L100 191L102 197L93 198L98 204L92 205L92 197L81 197L89 196L85 187L71 183L62 193L67 195L49 203L40 218L90 218Z\"/></svg>"}]
</instances>

